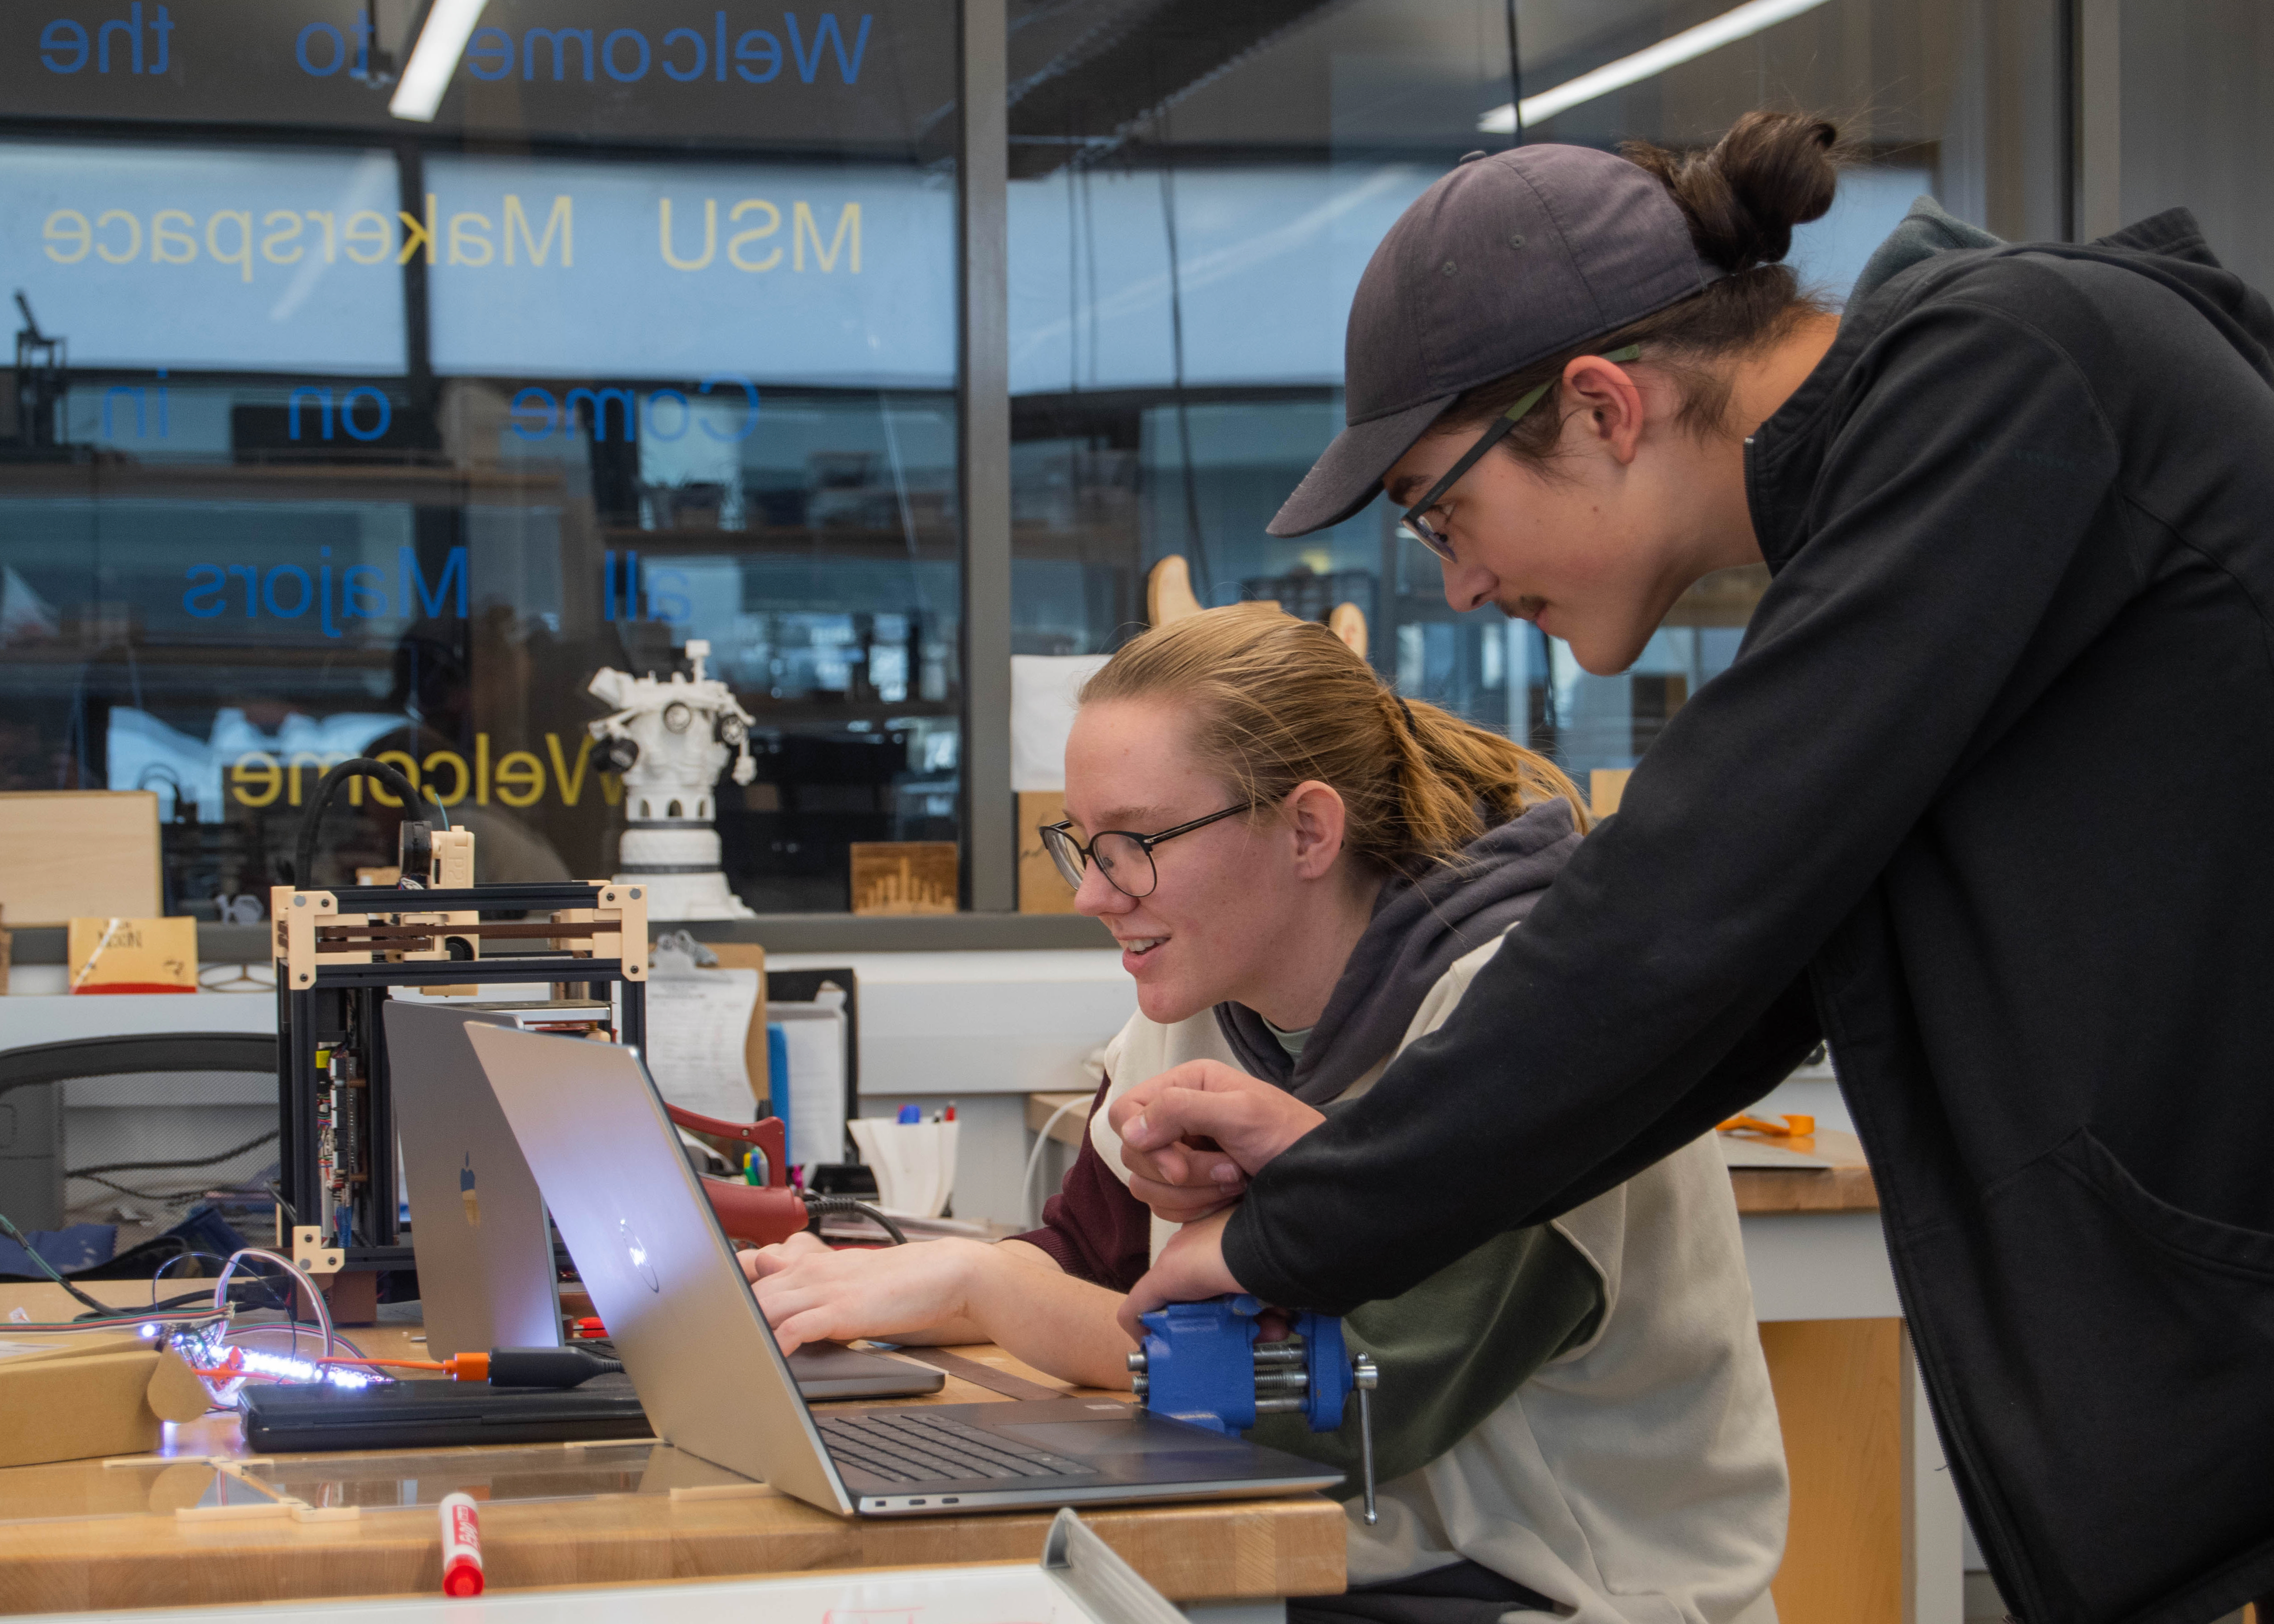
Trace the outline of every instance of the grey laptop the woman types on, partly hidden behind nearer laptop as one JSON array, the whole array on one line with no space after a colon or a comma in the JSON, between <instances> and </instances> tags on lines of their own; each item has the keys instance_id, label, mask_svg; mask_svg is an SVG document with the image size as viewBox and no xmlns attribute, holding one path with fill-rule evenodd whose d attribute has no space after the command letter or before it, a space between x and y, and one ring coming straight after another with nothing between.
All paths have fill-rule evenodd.
<instances>
[{"instance_id":1,"label":"grey laptop the woman types on, partly hidden behind nearer laptop","mask_svg":"<svg viewBox=\"0 0 2274 1624\"><path fill-rule=\"evenodd\" d=\"M530 1030L607 1012L605 1003L387 1003L387 1067L428 1358L562 1340L546 1203L466 1028ZM837 1342L798 1349L789 1369L810 1399L898 1399L946 1383L930 1365Z\"/></svg>"}]
</instances>

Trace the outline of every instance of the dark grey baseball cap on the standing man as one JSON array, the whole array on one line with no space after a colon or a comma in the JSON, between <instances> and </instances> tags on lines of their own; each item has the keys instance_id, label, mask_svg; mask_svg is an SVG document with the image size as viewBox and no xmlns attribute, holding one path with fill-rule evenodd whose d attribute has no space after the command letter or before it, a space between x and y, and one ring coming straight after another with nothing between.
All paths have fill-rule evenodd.
<instances>
[{"instance_id":1,"label":"dark grey baseball cap on the standing man","mask_svg":"<svg viewBox=\"0 0 2274 1624\"><path fill-rule=\"evenodd\" d=\"M1617 332L1721 277L1665 184L1590 146L1471 152L1383 237L1351 300L1344 428L1271 521L1373 500L1462 391Z\"/></svg>"}]
</instances>

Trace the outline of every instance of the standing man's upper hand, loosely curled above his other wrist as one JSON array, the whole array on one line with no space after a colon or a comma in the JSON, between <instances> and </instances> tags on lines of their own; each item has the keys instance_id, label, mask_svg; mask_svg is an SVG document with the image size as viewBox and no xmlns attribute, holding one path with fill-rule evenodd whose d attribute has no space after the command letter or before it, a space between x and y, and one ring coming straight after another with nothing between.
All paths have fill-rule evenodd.
<instances>
[{"instance_id":1,"label":"standing man's upper hand, loosely curled above his other wrist","mask_svg":"<svg viewBox=\"0 0 2274 1624\"><path fill-rule=\"evenodd\" d=\"M1217 1060L1187 1060L1139 1083L1105 1119L1121 1135L1130 1194L1169 1224L1235 1201L1248 1174L1326 1121L1287 1089Z\"/></svg>"}]
</instances>

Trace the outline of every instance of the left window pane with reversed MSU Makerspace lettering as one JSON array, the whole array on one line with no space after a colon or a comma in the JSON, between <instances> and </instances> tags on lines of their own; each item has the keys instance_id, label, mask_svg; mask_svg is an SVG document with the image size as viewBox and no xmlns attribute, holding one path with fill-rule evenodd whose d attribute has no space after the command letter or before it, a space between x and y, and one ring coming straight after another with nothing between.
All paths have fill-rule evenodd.
<instances>
[{"instance_id":1,"label":"left window pane with reversed MSU Makerspace lettering","mask_svg":"<svg viewBox=\"0 0 2274 1624\"><path fill-rule=\"evenodd\" d=\"M455 7L111 11L0 52L0 785L157 789L205 919L355 753L482 880L607 876L587 687L698 639L741 905L962 837L953 7L489 0L425 105Z\"/></svg>"}]
</instances>

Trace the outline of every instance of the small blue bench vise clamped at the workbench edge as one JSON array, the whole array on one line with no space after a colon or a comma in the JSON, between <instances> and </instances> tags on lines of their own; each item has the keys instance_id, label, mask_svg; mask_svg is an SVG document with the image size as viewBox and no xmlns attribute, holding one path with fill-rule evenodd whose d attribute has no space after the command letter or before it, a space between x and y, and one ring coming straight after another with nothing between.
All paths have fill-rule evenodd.
<instances>
[{"instance_id":1,"label":"small blue bench vise clamped at the workbench edge","mask_svg":"<svg viewBox=\"0 0 2274 1624\"><path fill-rule=\"evenodd\" d=\"M1342 1344L1342 1321L1296 1315L1285 1342L1258 1342L1264 1306L1248 1296L1169 1303L1144 1315L1144 1351L1130 1353L1137 1397L1153 1415L1194 1422L1219 1433L1244 1433L1258 1415L1301 1412L1314 1433L1342 1428L1342 1410L1358 1394L1358 1451L1364 1472L1367 1522L1373 1508L1373 1383L1364 1353Z\"/></svg>"}]
</instances>

